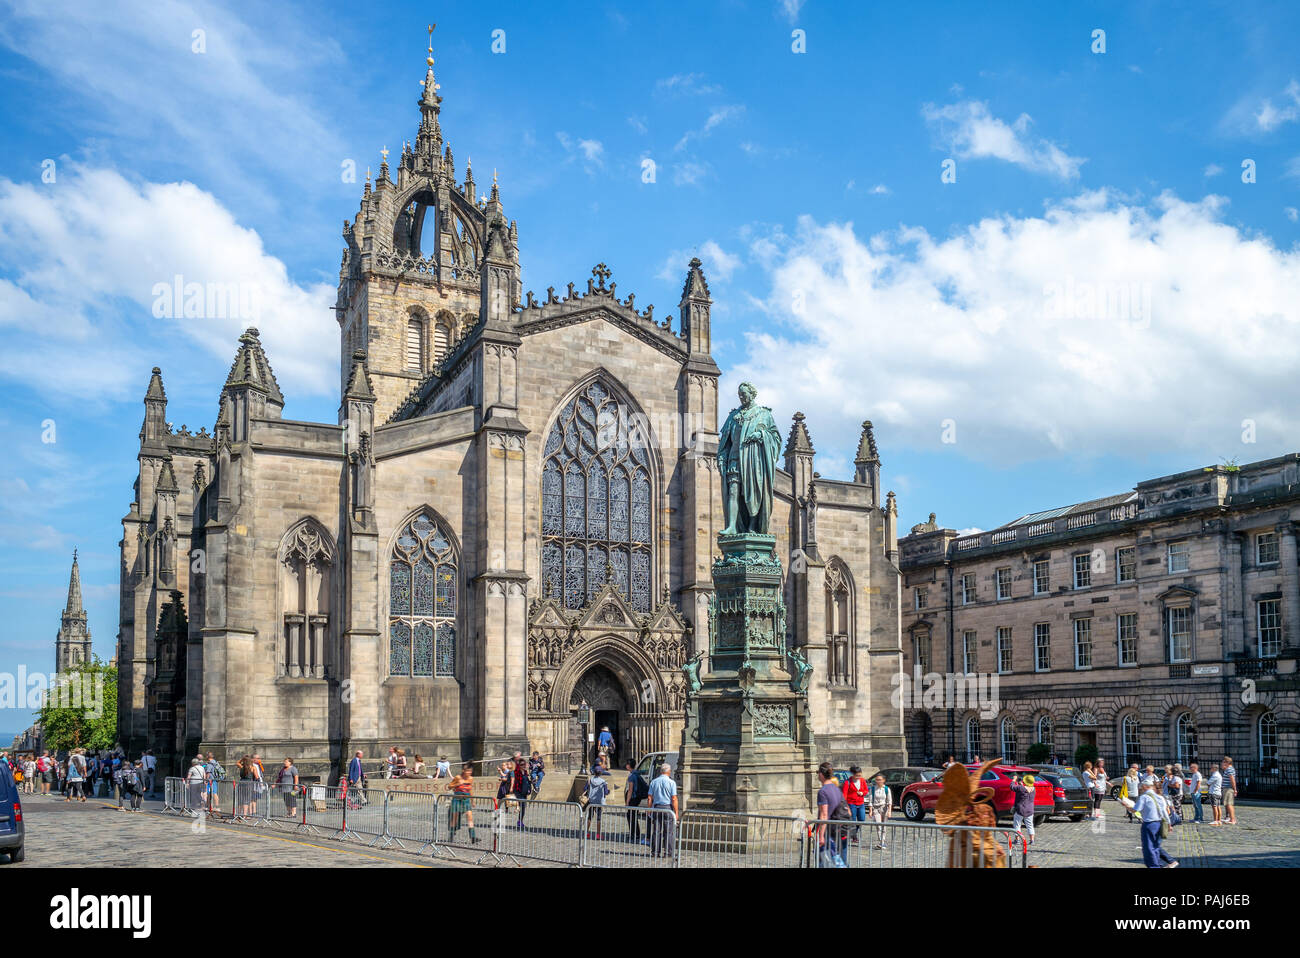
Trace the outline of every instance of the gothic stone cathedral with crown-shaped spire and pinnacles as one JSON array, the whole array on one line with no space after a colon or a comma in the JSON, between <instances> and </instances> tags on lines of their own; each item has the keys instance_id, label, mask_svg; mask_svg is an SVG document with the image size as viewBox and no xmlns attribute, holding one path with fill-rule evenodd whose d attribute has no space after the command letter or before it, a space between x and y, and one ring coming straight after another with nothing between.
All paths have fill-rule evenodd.
<instances>
[{"instance_id":1,"label":"gothic stone cathedral with crown-shaped spire and pinnacles","mask_svg":"<svg viewBox=\"0 0 1300 958\"><path fill-rule=\"evenodd\" d=\"M389 745L568 751L582 701L620 758L680 745L734 404L705 274L693 260L676 322L603 264L524 296L516 225L495 177L477 200L471 169L456 182L437 91L430 57L415 143L343 225L337 424L282 419L256 329L212 434L173 430L153 369L121 543L133 754L257 750L328 775ZM775 498L818 754L897 764L897 511L871 425L833 481L796 415Z\"/></svg>"}]
</instances>

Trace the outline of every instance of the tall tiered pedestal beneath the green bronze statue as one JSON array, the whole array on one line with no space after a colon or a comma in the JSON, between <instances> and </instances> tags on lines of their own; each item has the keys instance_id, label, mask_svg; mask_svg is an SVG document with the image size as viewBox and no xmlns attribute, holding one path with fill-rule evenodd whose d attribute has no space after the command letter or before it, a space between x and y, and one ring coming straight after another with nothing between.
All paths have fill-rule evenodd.
<instances>
[{"instance_id":1,"label":"tall tiered pedestal beneath the green bronze statue","mask_svg":"<svg viewBox=\"0 0 1300 958\"><path fill-rule=\"evenodd\" d=\"M688 685L682 807L807 815L815 794L807 664L785 650L776 537L719 536L699 688Z\"/></svg>"}]
</instances>

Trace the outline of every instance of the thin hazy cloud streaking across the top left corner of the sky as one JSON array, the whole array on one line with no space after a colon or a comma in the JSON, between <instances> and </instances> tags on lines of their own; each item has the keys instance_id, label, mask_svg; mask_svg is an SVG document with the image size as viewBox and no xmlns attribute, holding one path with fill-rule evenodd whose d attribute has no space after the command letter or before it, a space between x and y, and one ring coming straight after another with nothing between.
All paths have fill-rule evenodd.
<instances>
[{"instance_id":1,"label":"thin hazy cloud streaking across the top left corner of the sky","mask_svg":"<svg viewBox=\"0 0 1300 958\"><path fill-rule=\"evenodd\" d=\"M60 99L66 122L103 138L116 164L183 164L205 185L268 207L281 198L266 188L265 170L300 188L339 181L347 155L332 116L351 95L338 82L346 57L299 8L261 6L244 22L238 8L185 0L4 6L0 47L70 91ZM422 69L412 56L412 82Z\"/></svg>"}]
</instances>

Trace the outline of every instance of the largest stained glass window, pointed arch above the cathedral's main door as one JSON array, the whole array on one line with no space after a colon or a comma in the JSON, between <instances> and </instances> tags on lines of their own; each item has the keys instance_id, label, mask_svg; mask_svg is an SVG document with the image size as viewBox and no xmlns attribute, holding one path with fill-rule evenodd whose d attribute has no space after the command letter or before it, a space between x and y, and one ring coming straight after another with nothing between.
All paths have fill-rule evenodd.
<instances>
[{"instance_id":1,"label":"largest stained glass window, pointed arch above the cathedral's main door","mask_svg":"<svg viewBox=\"0 0 1300 958\"><path fill-rule=\"evenodd\" d=\"M542 454L543 595L582 608L612 582L650 611L649 438L599 380L560 411Z\"/></svg>"}]
</instances>

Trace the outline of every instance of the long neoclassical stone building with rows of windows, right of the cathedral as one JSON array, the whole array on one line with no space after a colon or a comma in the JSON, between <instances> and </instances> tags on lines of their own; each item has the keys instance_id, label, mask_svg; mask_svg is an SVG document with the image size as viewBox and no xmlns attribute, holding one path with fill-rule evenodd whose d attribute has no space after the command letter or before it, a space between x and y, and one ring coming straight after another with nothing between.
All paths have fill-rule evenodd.
<instances>
[{"instance_id":1,"label":"long neoclassical stone building with rows of windows, right of the cathedral","mask_svg":"<svg viewBox=\"0 0 1300 958\"><path fill-rule=\"evenodd\" d=\"M1297 521L1300 454L974 536L931 516L901 541L906 671L996 673L1000 702L909 707L909 753L1024 760L1041 741L1069 759L1091 744L1112 770L1230 754L1254 788L1294 789Z\"/></svg>"}]
</instances>

